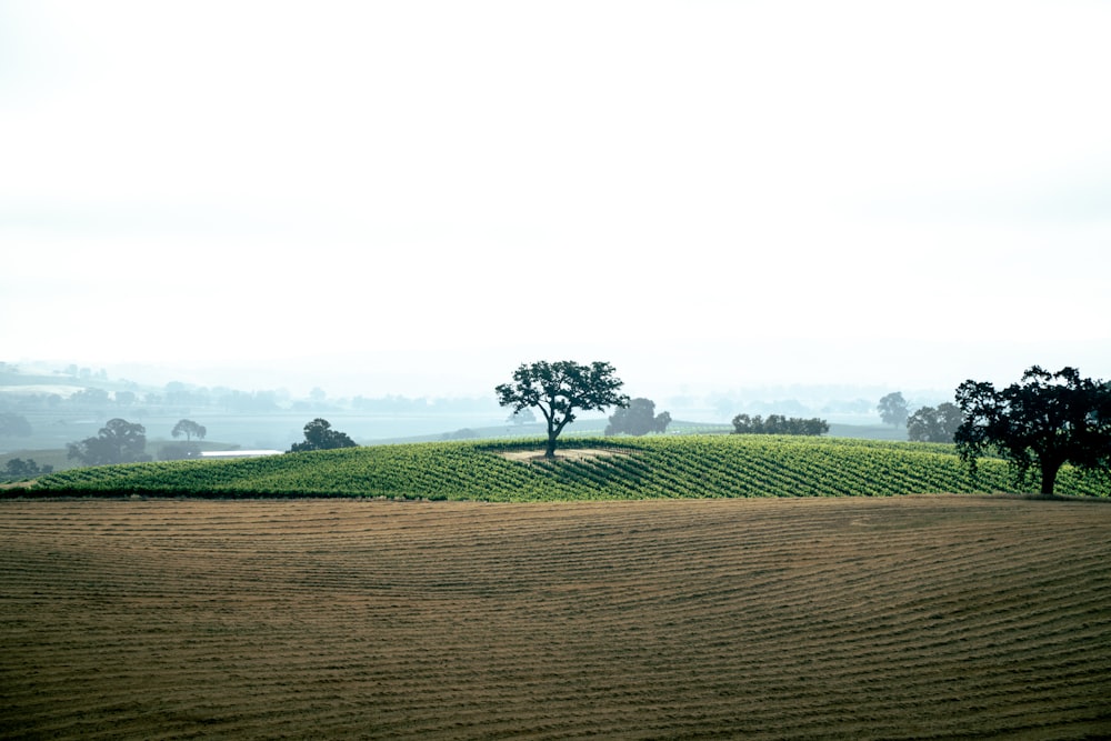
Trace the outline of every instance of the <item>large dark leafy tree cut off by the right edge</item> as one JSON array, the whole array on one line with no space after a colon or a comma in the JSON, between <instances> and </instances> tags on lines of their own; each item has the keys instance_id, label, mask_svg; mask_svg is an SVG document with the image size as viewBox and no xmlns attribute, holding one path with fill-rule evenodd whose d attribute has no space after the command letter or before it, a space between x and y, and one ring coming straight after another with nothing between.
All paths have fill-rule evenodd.
<instances>
[{"instance_id":1,"label":"large dark leafy tree cut off by the right edge","mask_svg":"<svg viewBox=\"0 0 1111 741\"><path fill-rule=\"evenodd\" d=\"M1065 463L1111 479L1111 382L1081 378L1074 368L1050 373L1033 366L1002 391L964 381L957 404L965 417L954 441L973 475L977 458L992 450L1020 483L1037 469L1042 494L1053 493Z\"/></svg>"}]
</instances>

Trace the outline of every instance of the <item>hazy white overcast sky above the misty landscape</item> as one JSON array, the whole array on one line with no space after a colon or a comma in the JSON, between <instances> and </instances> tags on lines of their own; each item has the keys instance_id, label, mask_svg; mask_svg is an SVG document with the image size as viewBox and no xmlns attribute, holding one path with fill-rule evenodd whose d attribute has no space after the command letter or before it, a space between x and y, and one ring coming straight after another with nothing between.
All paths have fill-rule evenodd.
<instances>
[{"instance_id":1,"label":"hazy white overcast sky above the misty landscape","mask_svg":"<svg viewBox=\"0 0 1111 741\"><path fill-rule=\"evenodd\" d=\"M0 360L1111 378L1109 38L1070 0L0 0Z\"/></svg>"}]
</instances>

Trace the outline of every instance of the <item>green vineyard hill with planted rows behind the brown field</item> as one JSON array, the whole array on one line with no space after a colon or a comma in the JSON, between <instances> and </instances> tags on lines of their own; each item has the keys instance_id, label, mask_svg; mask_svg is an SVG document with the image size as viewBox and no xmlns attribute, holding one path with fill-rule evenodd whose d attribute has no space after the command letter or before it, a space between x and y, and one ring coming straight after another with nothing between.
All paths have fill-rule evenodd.
<instances>
[{"instance_id":1,"label":"green vineyard hill with planted rows behind the brown field","mask_svg":"<svg viewBox=\"0 0 1111 741\"><path fill-rule=\"evenodd\" d=\"M376 497L552 501L718 497L1024 493L1008 467L969 477L951 445L770 435L577 438L556 461L539 440L429 442L232 461L72 469L11 495ZM1057 493L1100 495L1107 480L1061 472Z\"/></svg>"}]
</instances>

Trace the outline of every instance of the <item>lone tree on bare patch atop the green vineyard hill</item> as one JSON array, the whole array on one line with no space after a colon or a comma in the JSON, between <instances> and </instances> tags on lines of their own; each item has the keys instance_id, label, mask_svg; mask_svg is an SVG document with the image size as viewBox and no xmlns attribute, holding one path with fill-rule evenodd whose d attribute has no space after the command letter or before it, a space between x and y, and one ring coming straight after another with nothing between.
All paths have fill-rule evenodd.
<instances>
[{"instance_id":1,"label":"lone tree on bare patch atop the green vineyard hill","mask_svg":"<svg viewBox=\"0 0 1111 741\"><path fill-rule=\"evenodd\" d=\"M512 383L494 387L498 403L520 411L530 407L540 410L548 422L548 447L544 457L556 458L556 438L574 421L574 411L628 407L629 397L618 393L623 382L613 375L613 366L594 361L581 366L571 360L521 363L513 371Z\"/></svg>"}]
</instances>

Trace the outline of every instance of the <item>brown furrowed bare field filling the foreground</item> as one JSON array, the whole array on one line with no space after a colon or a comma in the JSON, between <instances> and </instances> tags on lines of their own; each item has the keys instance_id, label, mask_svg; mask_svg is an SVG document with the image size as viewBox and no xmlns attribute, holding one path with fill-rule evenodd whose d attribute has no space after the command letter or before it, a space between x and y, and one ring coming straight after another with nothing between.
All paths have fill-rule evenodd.
<instances>
[{"instance_id":1,"label":"brown furrowed bare field filling the foreground","mask_svg":"<svg viewBox=\"0 0 1111 741\"><path fill-rule=\"evenodd\" d=\"M0 502L0 737L1111 737L1111 504Z\"/></svg>"}]
</instances>

